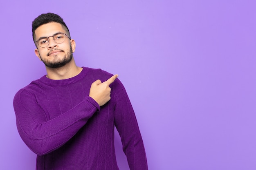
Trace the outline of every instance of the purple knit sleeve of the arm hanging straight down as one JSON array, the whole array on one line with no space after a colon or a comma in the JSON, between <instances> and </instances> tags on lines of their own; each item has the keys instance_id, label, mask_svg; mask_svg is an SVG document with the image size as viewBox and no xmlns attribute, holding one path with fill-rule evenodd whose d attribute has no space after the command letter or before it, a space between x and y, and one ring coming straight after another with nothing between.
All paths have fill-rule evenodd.
<instances>
[{"instance_id":1,"label":"purple knit sleeve of the arm hanging straight down","mask_svg":"<svg viewBox=\"0 0 256 170\"><path fill-rule=\"evenodd\" d=\"M144 144L126 90L119 79L116 79L112 86L116 100L115 126L121 137L129 167L131 170L147 170Z\"/></svg>"}]
</instances>

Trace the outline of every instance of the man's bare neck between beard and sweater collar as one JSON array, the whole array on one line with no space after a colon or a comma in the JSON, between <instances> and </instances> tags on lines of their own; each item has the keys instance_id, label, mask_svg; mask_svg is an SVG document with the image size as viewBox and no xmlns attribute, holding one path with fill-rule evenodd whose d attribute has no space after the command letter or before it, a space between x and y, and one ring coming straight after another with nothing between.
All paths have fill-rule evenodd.
<instances>
[{"instance_id":1,"label":"man's bare neck between beard and sweater collar","mask_svg":"<svg viewBox=\"0 0 256 170\"><path fill-rule=\"evenodd\" d=\"M59 68L49 68L46 67L47 75L49 79L68 79L74 77L81 73L83 68L76 66L74 60L70 61L70 63L65 66Z\"/></svg>"}]
</instances>

